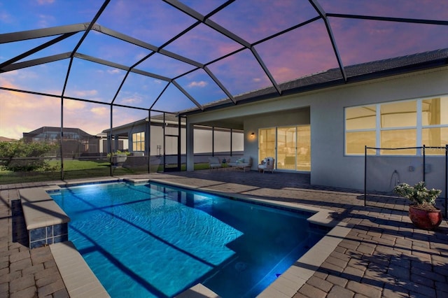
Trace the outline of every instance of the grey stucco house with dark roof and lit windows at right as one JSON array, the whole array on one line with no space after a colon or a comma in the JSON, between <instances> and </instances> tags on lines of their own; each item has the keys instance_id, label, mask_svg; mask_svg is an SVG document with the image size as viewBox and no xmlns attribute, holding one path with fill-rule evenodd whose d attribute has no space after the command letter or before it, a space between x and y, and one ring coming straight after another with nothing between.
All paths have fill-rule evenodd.
<instances>
[{"instance_id":1,"label":"grey stucco house with dark roof and lit windows at right","mask_svg":"<svg viewBox=\"0 0 448 298\"><path fill-rule=\"evenodd\" d=\"M272 156L278 171L309 171L312 185L362 190L364 146L448 143L447 59L444 49L348 66L346 82L333 69L280 85L281 95L274 88L258 90L236 97L234 106L215 103L181 115L188 120L187 132L194 125L244 127L244 155L255 161ZM194 138L187 133L187 161L193 160ZM393 162L384 162L387 155L370 152L378 164L374 190L422 179L420 151ZM430 155L426 180L444 189L444 150ZM400 179L393 178L395 171Z\"/></svg>"}]
</instances>

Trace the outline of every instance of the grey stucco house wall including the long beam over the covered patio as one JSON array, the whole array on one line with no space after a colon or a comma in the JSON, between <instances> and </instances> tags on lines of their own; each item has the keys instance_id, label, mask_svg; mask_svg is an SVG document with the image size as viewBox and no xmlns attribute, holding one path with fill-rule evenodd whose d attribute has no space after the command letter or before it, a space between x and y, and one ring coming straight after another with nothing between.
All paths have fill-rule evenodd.
<instances>
[{"instance_id":1,"label":"grey stucco house wall including the long beam over the covered patio","mask_svg":"<svg viewBox=\"0 0 448 298\"><path fill-rule=\"evenodd\" d=\"M442 94L448 94L447 67L190 115L188 121L198 123L244 116L244 154L253 158L252 169L256 169L260 159L258 136L251 139L251 132L258 134L259 128L269 126L307 124L303 111L309 107L311 184L362 190L364 157L344 156L344 108ZM305 109L288 112L297 108ZM262 113L270 114L263 116ZM409 166L408 163L403 159L402 166Z\"/></svg>"}]
</instances>

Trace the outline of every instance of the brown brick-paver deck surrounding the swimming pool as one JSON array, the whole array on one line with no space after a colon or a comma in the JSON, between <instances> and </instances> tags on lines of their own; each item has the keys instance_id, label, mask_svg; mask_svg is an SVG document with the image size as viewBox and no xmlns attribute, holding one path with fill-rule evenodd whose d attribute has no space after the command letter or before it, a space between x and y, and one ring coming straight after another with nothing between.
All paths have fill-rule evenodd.
<instances>
[{"instance_id":1,"label":"brown brick-paver deck surrounding the swimming pool","mask_svg":"<svg viewBox=\"0 0 448 298\"><path fill-rule=\"evenodd\" d=\"M374 206L364 206L363 192L309 185L309 175L298 173L220 169L119 178L164 180L332 211L330 217L343 222L347 234L334 236L337 244L320 265L296 262L310 274L297 292L271 297L448 297L447 221L436 231L416 229L403 200L376 197L369 202ZM20 188L63 184L0 185L0 297L69 297L50 248L27 248L17 206ZM292 283L287 288L297 286ZM198 293L189 292L186 297Z\"/></svg>"}]
</instances>

